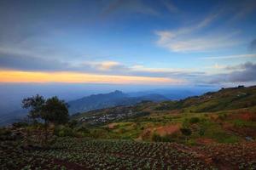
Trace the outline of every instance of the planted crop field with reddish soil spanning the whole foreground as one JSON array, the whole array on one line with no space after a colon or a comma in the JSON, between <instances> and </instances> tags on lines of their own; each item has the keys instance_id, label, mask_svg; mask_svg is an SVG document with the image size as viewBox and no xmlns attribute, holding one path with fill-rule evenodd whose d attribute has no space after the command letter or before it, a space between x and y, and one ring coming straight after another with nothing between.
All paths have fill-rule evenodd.
<instances>
[{"instance_id":1,"label":"planted crop field with reddish soil spanning the whole foreground","mask_svg":"<svg viewBox=\"0 0 256 170\"><path fill-rule=\"evenodd\" d=\"M47 149L5 141L1 169L256 169L256 143L185 146L59 138Z\"/></svg>"}]
</instances>

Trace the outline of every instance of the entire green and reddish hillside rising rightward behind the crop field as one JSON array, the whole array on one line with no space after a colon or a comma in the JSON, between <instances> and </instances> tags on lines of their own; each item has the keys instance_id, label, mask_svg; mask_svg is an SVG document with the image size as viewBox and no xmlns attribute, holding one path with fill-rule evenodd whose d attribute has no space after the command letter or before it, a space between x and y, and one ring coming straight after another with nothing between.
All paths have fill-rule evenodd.
<instances>
[{"instance_id":1,"label":"entire green and reddish hillside rising rightward behind the crop field","mask_svg":"<svg viewBox=\"0 0 256 170\"><path fill-rule=\"evenodd\" d=\"M89 129L84 135L94 138L236 143L256 139L255 99L256 87L223 88L178 101L90 111L73 119Z\"/></svg>"}]
</instances>

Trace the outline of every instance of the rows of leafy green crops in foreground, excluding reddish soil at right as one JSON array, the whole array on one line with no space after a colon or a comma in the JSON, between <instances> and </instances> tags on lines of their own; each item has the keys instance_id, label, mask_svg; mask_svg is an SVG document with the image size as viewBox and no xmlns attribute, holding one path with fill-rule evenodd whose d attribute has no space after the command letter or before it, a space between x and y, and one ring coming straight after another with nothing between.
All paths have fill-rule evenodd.
<instances>
[{"instance_id":1,"label":"rows of leafy green crops in foreground, excluding reddish soil at right","mask_svg":"<svg viewBox=\"0 0 256 170\"><path fill-rule=\"evenodd\" d=\"M2 142L0 150L2 169L212 169L183 144L172 143L59 138L48 150Z\"/></svg>"}]
</instances>

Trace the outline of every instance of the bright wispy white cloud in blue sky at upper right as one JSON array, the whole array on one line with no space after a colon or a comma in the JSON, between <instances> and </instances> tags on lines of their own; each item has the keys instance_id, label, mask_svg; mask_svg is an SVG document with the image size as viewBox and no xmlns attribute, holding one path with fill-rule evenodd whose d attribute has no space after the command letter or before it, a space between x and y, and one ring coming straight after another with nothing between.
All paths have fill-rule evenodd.
<instances>
[{"instance_id":1,"label":"bright wispy white cloud in blue sky at upper right","mask_svg":"<svg viewBox=\"0 0 256 170\"><path fill-rule=\"evenodd\" d=\"M239 42L235 40L238 31L201 33L202 29L210 26L219 13L210 14L194 26L181 27L172 31L155 31L158 36L157 44L173 52L204 52L213 49L232 47Z\"/></svg>"}]
</instances>

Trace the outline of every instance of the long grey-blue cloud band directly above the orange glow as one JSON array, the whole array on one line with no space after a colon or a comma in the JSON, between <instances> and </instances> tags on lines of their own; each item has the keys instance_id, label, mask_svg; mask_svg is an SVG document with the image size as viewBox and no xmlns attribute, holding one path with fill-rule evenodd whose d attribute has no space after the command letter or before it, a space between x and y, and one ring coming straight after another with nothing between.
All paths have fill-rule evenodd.
<instances>
[{"instance_id":1,"label":"long grey-blue cloud band directly above the orange glow","mask_svg":"<svg viewBox=\"0 0 256 170\"><path fill-rule=\"evenodd\" d=\"M145 67L144 65L125 65L113 60L61 60L61 58L44 57L42 54L36 54L35 52L28 50L20 50L20 48L14 48L13 51L7 48L0 48L0 70L35 71L44 73L52 73L56 71L77 72L81 74L90 74L91 76L106 75L107 77L165 77L166 79L183 81L186 81L187 78L204 74L204 72L191 69L150 68ZM17 80L20 81L19 78Z\"/></svg>"}]
</instances>

